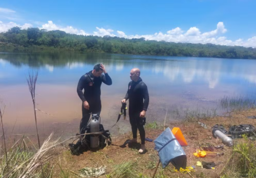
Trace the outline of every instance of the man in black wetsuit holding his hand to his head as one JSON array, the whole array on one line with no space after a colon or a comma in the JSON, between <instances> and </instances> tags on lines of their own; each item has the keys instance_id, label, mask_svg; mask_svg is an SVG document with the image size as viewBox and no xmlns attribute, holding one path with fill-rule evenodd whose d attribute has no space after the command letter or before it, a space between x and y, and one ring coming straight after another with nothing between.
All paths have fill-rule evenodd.
<instances>
[{"instance_id":1,"label":"man in black wetsuit holding his hand to his head","mask_svg":"<svg viewBox=\"0 0 256 178\"><path fill-rule=\"evenodd\" d=\"M102 74L104 73L104 75ZM81 76L77 85L77 94L82 100L82 119L80 122L80 134L84 133L91 113L100 115L101 112L101 100L100 100L100 86L101 83L107 85L112 84L112 80L108 73L106 73L105 67L102 64L96 64L93 71ZM84 89L84 93L82 90Z\"/></svg>"}]
</instances>

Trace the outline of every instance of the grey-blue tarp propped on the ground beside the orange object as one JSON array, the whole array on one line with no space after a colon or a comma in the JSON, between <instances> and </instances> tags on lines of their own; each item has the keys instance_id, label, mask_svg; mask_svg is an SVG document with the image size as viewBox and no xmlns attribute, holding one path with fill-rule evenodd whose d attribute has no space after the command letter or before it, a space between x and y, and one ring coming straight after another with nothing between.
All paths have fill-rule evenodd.
<instances>
[{"instance_id":1,"label":"grey-blue tarp propped on the ground beside the orange object","mask_svg":"<svg viewBox=\"0 0 256 178\"><path fill-rule=\"evenodd\" d=\"M155 149L158 151L162 167L165 168L170 162L176 169L186 168L186 153L176 140L170 128L166 128L161 135L154 140Z\"/></svg>"}]
</instances>

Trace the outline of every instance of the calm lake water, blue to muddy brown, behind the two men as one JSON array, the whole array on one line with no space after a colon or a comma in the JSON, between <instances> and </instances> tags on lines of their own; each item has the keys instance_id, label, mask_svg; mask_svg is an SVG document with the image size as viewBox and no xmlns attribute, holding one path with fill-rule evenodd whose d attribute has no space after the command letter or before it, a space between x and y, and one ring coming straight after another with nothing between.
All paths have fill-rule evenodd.
<instances>
[{"instance_id":1,"label":"calm lake water, blue to muddy brown, behind the two men","mask_svg":"<svg viewBox=\"0 0 256 178\"><path fill-rule=\"evenodd\" d=\"M36 107L42 124L76 126L81 101L76 93L79 78L103 63L113 80L102 83L102 122L111 127L127 91L130 70L139 68L150 93L149 121L180 119L187 109L214 110L224 96L255 98L256 60L196 57L163 57L97 53L0 54L0 98L6 105L5 123L11 127L34 124L33 105L26 75L38 70ZM180 117L178 117L178 115ZM121 120L119 129L129 126ZM65 128L66 128L65 127ZM114 127L113 127L114 128Z\"/></svg>"}]
</instances>

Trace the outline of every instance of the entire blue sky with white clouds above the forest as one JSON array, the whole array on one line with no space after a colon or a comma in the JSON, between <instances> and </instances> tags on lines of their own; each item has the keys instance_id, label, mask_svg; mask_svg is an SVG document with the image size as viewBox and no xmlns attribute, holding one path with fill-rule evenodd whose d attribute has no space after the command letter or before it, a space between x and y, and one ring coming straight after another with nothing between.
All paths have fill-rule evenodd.
<instances>
[{"instance_id":1,"label":"entire blue sky with white clouds above the forest","mask_svg":"<svg viewBox=\"0 0 256 178\"><path fill-rule=\"evenodd\" d=\"M1 0L0 32L19 26L78 35L256 48L255 0Z\"/></svg>"}]
</instances>

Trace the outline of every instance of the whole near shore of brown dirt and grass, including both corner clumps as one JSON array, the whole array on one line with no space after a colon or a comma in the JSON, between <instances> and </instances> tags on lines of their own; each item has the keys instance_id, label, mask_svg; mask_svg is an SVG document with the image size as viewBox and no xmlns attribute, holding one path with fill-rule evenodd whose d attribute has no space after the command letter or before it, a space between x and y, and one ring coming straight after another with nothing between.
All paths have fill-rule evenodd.
<instances>
[{"instance_id":1,"label":"whole near shore of brown dirt and grass, including both corner clumps","mask_svg":"<svg viewBox=\"0 0 256 178\"><path fill-rule=\"evenodd\" d=\"M156 177L255 177L256 176L256 148L254 141L243 138L235 139L233 147L225 146L224 155L220 157L197 158L193 154L200 145L221 145L221 140L212 137L211 127L222 124L228 130L231 125L252 124L256 116L256 109L233 111L228 116L204 119L193 119L166 123L165 128L179 127L188 143L183 147L187 155L187 166L196 166L194 171L187 173L176 172L172 164L165 169L160 166ZM204 123L208 128L202 127L198 122ZM164 130L163 125L156 122L146 126L146 137L156 139ZM121 148L127 139L132 139L132 133L125 133L113 138L112 145L97 152L87 151L76 156L72 155L67 147L71 141L59 143L48 139L38 150L38 146L29 143L22 137L7 149L7 158L2 150L0 158L0 174L3 177L80 177L82 168L98 168L105 166L105 174L99 177L152 177L158 162L158 155L154 150L154 142L146 142L146 152L139 154L140 144L133 144ZM138 137L138 141L140 141ZM3 143L3 142L2 142ZM3 146L2 146L3 148ZM197 161L220 163L215 169L205 169L196 165ZM21 176L22 175L22 176Z\"/></svg>"}]
</instances>

